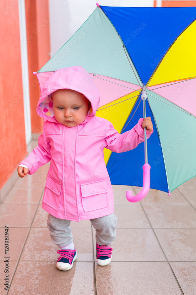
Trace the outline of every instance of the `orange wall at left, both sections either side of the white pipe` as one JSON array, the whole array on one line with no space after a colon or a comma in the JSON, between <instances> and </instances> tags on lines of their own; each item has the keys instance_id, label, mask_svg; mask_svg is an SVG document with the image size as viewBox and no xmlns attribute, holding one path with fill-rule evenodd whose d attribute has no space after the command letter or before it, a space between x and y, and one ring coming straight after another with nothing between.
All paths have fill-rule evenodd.
<instances>
[{"instance_id":1,"label":"orange wall at left, both sections either side of the white pipe","mask_svg":"<svg viewBox=\"0 0 196 295\"><path fill-rule=\"evenodd\" d=\"M18 0L0 1L0 189L27 155L21 70L21 47L27 46L32 132L41 133L36 114L39 84L33 71L49 59L48 0L25 0L26 41L20 44Z\"/></svg>"}]
</instances>

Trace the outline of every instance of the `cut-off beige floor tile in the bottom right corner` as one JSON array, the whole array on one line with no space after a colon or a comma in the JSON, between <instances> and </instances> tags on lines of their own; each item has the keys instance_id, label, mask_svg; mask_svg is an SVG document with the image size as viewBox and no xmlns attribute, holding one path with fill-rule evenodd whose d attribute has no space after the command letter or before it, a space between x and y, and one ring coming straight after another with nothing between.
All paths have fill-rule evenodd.
<instances>
[{"instance_id":1,"label":"cut-off beige floor tile in the bottom right corner","mask_svg":"<svg viewBox=\"0 0 196 295\"><path fill-rule=\"evenodd\" d=\"M196 294L196 262L170 262L185 295Z\"/></svg>"}]
</instances>

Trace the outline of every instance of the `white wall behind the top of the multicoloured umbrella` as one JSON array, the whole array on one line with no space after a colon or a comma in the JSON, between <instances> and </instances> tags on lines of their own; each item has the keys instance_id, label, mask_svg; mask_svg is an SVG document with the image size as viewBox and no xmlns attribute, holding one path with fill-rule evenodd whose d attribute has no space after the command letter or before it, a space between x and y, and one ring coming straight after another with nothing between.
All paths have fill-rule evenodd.
<instances>
[{"instance_id":1,"label":"white wall behind the top of the multicoloured umbrella","mask_svg":"<svg viewBox=\"0 0 196 295\"><path fill-rule=\"evenodd\" d=\"M98 2L104 6L153 7L153 0L49 0L51 56L81 27Z\"/></svg>"}]
</instances>

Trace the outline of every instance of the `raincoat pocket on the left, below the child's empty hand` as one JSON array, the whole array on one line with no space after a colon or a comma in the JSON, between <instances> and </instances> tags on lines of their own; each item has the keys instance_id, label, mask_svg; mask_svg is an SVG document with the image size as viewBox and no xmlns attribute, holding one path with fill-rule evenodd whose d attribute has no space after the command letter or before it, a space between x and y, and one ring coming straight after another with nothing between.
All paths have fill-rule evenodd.
<instances>
[{"instance_id":1,"label":"raincoat pocket on the left, below the child's empty hand","mask_svg":"<svg viewBox=\"0 0 196 295\"><path fill-rule=\"evenodd\" d=\"M43 202L58 211L61 204L62 184L47 176Z\"/></svg>"}]
</instances>

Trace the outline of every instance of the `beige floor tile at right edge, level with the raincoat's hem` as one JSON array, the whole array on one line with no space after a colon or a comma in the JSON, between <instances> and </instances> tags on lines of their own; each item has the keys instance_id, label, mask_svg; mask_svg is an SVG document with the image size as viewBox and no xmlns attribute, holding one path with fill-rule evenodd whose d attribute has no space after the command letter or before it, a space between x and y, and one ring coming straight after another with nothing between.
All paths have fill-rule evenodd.
<instances>
[{"instance_id":1,"label":"beige floor tile at right edge, level with the raincoat's hem","mask_svg":"<svg viewBox=\"0 0 196 295\"><path fill-rule=\"evenodd\" d=\"M143 205L153 228L195 228L196 211L191 206Z\"/></svg>"}]
</instances>

